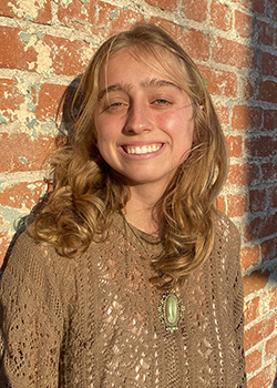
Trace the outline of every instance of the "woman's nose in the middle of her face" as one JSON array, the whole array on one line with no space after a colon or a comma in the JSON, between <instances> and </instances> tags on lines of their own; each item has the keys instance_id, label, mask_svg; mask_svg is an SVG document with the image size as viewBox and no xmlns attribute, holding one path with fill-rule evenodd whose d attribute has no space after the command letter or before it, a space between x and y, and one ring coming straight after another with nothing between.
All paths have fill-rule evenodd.
<instances>
[{"instance_id":1,"label":"woman's nose in the middle of her face","mask_svg":"<svg viewBox=\"0 0 277 388\"><path fill-rule=\"evenodd\" d=\"M151 131L152 127L151 112L146 103L132 103L126 114L124 131L129 134L138 134L144 131Z\"/></svg>"}]
</instances>

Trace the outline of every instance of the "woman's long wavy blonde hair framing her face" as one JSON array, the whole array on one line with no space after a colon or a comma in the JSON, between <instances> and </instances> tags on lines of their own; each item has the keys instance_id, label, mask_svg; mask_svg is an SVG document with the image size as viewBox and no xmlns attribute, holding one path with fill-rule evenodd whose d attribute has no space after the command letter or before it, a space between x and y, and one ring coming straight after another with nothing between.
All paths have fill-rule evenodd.
<instances>
[{"instance_id":1,"label":"woman's long wavy blonde hair framing her face","mask_svg":"<svg viewBox=\"0 0 277 388\"><path fill-rule=\"evenodd\" d=\"M136 23L105 41L92 58L71 102L65 144L52 160L53 191L29 231L59 254L78 257L91 243L101 242L112 213L124 210L129 187L102 159L93 122L100 75L109 59L122 50L166 74L193 104L193 147L155 205L164 251L153 259L157 276L151 282L168 288L183 282L212 252L215 200L226 178L227 155L205 81L182 47L157 25ZM165 60L166 53L174 55L178 67Z\"/></svg>"}]
</instances>

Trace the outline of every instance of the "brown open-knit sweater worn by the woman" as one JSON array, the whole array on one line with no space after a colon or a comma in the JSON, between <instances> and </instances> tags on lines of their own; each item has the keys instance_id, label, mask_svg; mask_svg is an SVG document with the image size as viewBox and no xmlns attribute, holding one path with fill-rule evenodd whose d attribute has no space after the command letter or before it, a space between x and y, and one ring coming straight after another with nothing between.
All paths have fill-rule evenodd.
<instances>
[{"instance_id":1,"label":"brown open-knit sweater worn by the woman","mask_svg":"<svg viewBox=\"0 0 277 388\"><path fill-rule=\"evenodd\" d=\"M145 257L162 243L124 225L115 215L106 239L78 259L18 238L1 280L2 388L246 387L234 224L218 216L209 258L179 289L173 333Z\"/></svg>"}]
</instances>

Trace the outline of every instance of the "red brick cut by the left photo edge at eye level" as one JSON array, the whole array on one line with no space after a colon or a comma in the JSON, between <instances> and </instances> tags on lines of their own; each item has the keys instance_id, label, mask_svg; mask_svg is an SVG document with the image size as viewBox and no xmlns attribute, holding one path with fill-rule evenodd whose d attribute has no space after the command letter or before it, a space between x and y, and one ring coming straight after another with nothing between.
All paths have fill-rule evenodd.
<instances>
[{"instance_id":1,"label":"red brick cut by the left photo edge at eye level","mask_svg":"<svg viewBox=\"0 0 277 388\"><path fill-rule=\"evenodd\" d=\"M24 96L19 92L16 80L0 80L0 111L8 121L16 119L16 110L24 101Z\"/></svg>"}]
</instances>

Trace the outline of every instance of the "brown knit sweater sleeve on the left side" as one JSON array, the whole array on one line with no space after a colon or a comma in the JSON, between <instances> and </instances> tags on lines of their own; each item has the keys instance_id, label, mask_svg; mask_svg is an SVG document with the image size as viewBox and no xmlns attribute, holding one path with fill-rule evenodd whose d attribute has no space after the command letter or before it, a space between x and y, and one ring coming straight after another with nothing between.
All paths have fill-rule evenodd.
<instances>
[{"instance_id":1,"label":"brown knit sweater sleeve on the left side","mask_svg":"<svg viewBox=\"0 0 277 388\"><path fill-rule=\"evenodd\" d=\"M0 288L2 388L59 385L59 356L66 314L58 274L49 251L25 233L21 235L9 257Z\"/></svg>"}]
</instances>

